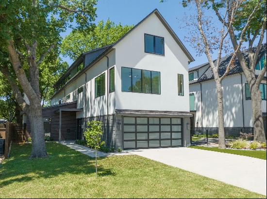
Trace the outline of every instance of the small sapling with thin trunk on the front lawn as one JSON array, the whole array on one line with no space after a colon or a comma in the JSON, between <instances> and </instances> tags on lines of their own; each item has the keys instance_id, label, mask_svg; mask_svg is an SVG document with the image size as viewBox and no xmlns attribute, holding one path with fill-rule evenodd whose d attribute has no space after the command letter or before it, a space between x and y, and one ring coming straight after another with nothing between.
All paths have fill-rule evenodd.
<instances>
[{"instance_id":1,"label":"small sapling with thin trunk on the front lawn","mask_svg":"<svg viewBox=\"0 0 267 199\"><path fill-rule=\"evenodd\" d=\"M102 132L102 122L101 121L90 121L87 122L88 128L83 132L84 138L87 145L95 150L96 154L96 177L98 176L98 159L97 150L100 149Z\"/></svg>"}]
</instances>

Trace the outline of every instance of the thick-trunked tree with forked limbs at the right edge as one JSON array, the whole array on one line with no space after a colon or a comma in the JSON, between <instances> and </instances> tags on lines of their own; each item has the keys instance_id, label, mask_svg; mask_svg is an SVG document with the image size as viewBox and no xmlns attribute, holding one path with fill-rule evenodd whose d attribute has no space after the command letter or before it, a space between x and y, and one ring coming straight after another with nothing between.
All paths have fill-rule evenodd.
<instances>
[{"instance_id":1,"label":"thick-trunked tree with forked limbs at the right edge","mask_svg":"<svg viewBox=\"0 0 267 199\"><path fill-rule=\"evenodd\" d=\"M224 23L221 11L227 10L229 12L235 3L234 0L211 0L211 7L219 21L229 30L234 49L238 48L244 40L248 42L249 61L246 61L239 49L236 51L236 55L250 87L254 140L265 142L266 137L262 117L262 93L259 86L267 71L266 62L259 75L255 74L255 66L260 59L259 53L266 32L266 0L238 0L237 2L240 5L234 13L235 20L233 23ZM247 26L248 23L249 26ZM241 37L241 34L243 37ZM256 38L258 38L258 41ZM253 47L254 43L256 43L255 47Z\"/></svg>"}]
</instances>

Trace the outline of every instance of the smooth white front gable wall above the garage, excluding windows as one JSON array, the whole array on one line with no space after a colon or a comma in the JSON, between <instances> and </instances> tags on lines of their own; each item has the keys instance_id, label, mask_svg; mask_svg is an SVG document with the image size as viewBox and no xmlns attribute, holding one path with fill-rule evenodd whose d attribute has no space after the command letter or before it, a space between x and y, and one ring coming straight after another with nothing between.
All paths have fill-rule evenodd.
<instances>
[{"instance_id":1,"label":"smooth white front gable wall above the garage, excluding windows","mask_svg":"<svg viewBox=\"0 0 267 199\"><path fill-rule=\"evenodd\" d=\"M164 37L165 56L144 52L144 33ZM117 109L189 111L188 58L155 14L115 48ZM121 67L159 71L161 94L121 92ZM178 96L177 74L184 75L184 96Z\"/></svg>"}]
</instances>

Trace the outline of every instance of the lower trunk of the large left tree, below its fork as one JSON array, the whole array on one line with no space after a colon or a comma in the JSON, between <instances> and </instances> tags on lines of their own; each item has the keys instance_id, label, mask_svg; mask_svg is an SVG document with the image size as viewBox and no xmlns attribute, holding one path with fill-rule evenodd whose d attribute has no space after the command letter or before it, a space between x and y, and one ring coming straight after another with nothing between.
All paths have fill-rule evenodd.
<instances>
[{"instance_id":1,"label":"lower trunk of the large left tree, below its fork","mask_svg":"<svg viewBox=\"0 0 267 199\"><path fill-rule=\"evenodd\" d=\"M42 107L40 105L30 106L32 153L30 158L46 157L44 122Z\"/></svg>"}]
</instances>

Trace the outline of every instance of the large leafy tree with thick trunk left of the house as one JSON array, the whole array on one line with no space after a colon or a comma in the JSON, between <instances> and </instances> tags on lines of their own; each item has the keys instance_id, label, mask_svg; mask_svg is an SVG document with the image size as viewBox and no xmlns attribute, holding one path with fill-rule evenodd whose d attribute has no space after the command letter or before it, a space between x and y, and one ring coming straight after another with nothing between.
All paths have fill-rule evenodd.
<instances>
[{"instance_id":1,"label":"large leafy tree with thick trunk left of the house","mask_svg":"<svg viewBox=\"0 0 267 199\"><path fill-rule=\"evenodd\" d=\"M39 87L39 69L46 57L57 50L67 27L90 29L96 0L2 0L0 3L0 62L21 109L31 121L31 158L46 157L44 125ZM71 26L75 20L77 26ZM4 57L4 56L3 56ZM46 66L49 67L49 66ZM29 70L27 74L25 70ZM29 99L26 104L19 86Z\"/></svg>"}]
</instances>

